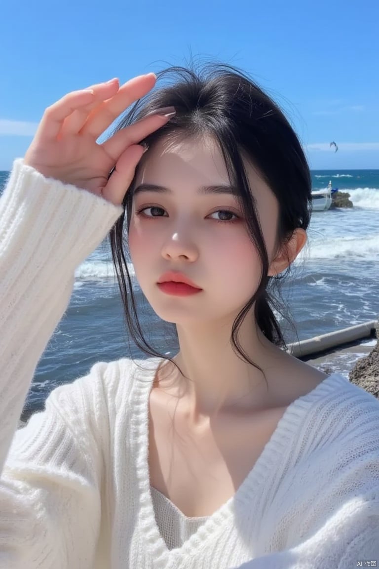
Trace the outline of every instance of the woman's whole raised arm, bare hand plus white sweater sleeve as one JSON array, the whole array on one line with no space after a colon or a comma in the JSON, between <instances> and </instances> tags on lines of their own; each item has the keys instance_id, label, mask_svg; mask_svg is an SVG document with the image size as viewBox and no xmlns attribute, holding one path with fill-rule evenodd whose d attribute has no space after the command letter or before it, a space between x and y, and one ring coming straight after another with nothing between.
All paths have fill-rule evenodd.
<instances>
[{"instance_id":1,"label":"woman's whole raised arm, bare hand plus white sweater sleeve","mask_svg":"<svg viewBox=\"0 0 379 569\"><path fill-rule=\"evenodd\" d=\"M0 199L0 567L92 564L106 430L94 394L104 364L53 391L44 413L15 431L36 365L68 306L74 270L122 215L144 151L138 142L168 117L147 117L101 145L97 139L154 84L149 74L123 86L93 85L46 109Z\"/></svg>"}]
</instances>

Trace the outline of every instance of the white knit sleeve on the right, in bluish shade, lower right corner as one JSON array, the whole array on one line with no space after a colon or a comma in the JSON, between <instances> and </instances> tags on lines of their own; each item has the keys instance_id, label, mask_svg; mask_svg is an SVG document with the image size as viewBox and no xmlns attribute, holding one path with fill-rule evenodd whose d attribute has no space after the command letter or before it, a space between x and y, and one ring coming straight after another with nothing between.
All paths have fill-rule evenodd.
<instances>
[{"instance_id":1,"label":"white knit sleeve on the right, in bluish shade, lower right corner","mask_svg":"<svg viewBox=\"0 0 379 569\"><path fill-rule=\"evenodd\" d=\"M379 567L379 406L366 393L349 397L268 517L285 529L283 549L240 569Z\"/></svg>"}]
</instances>

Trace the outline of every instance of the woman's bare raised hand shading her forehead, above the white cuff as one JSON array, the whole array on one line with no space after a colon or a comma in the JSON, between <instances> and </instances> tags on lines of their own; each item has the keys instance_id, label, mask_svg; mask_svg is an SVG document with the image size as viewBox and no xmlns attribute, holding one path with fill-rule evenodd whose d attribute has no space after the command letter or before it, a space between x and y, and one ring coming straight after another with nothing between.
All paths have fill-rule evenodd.
<instances>
[{"instance_id":1,"label":"woman's bare raised hand shading her forehead, above the white cuff","mask_svg":"<svg viewBox=\"0 0 379 569\"><path fill-rule=\"evenodd\" d=\"M48 178L121 204L144 152L138 143L168 121L169 110L119 130L102 144L96 141L155 81L156 76L149 73L122 86L114 79L66 94L45 110L24 163Z\"/></svg>"}]
</instances>

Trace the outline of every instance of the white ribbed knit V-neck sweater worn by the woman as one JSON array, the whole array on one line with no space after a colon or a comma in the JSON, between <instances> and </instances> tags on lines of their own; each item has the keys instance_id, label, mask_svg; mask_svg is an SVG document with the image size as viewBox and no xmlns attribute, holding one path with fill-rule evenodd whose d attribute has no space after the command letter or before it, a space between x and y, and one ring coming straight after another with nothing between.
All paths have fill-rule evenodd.
<instances>
[{"instance_id":1,"label":"white ribbed knit V-neck sweater worn by the woman","mask_svg":"<svg viewBox=\"0 0 379 569\"><path fill-rule=\"evenodd\" d=\"M15 434L74 270L121 213L21 160L1 196L0 567L379 567L379 402L342 376L288 407L235 496L173 550L149 486L157 360L95 365Z\"/></svg>"}]
</instances>

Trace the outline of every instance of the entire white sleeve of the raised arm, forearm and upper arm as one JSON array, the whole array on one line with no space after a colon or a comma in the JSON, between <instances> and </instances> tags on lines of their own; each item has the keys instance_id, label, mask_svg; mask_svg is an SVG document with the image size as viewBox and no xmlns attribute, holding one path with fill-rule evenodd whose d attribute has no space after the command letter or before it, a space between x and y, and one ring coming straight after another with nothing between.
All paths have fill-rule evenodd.
<instances>
[{"instance_id":1,"label":"entire white sleeve of the raised arm, forearm and upper arm","mask_svg":"<svg viewBox=\"0 0 379 569\"><path fill-rule=\"evenodd\" d=\"M74 270L121 214L122 207L46 179L22 160L0 198L1 568L90 566L101 461L85 386L95 384L99 368L88 381L53 391L44 413L16 428L68 306Z\"/></svg>"}]
</instances>

